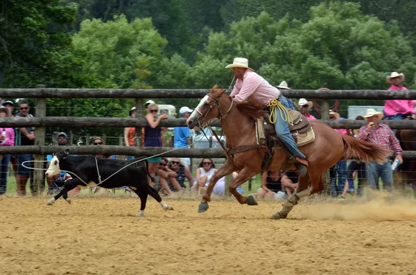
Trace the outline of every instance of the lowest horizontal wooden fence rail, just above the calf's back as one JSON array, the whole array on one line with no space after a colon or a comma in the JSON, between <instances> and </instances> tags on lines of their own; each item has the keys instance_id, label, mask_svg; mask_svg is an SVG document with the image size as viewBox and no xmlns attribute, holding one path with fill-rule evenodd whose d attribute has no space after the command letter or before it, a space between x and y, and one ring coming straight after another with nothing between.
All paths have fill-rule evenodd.
<instances>
[{"instance_id":1,"label":"lowest horizontal wooden fence rail, just above the calf's back","mask_svg":"<svg viewBox=\"0 0 416 275\"><path fill-rule=\"evenodd\" d=\"M166 148L166 147L126 147L116 145L87 145L87 146L3 146L0 147L0 154L53 154L69 149L70 154L116 154L136 157L152 157L155 154L162 154L161 157L209 157L225 158L221 148ZM166 154L165 154L166 153ZM416 159L416 151L404 151L404 159Z\"/></svg>"}]
</instances>

